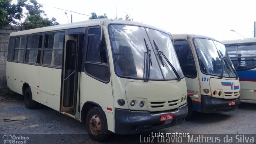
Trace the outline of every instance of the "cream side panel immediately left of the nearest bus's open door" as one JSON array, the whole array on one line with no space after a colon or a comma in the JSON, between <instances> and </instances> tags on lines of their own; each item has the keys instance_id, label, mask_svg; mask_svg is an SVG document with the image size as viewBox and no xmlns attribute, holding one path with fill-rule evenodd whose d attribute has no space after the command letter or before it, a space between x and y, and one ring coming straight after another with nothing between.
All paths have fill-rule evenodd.
<instances>
[{"instance_id":1,"label":"cream side panel immediately left of the nearest bus's open door","mask_svg":"<svg viewBox=\"0 0 256 144\"><path fill-rule=\"evenodd\" d=\"M40 66L40 102L60 111L61 69Z\"/></svg>"}]
</instances>

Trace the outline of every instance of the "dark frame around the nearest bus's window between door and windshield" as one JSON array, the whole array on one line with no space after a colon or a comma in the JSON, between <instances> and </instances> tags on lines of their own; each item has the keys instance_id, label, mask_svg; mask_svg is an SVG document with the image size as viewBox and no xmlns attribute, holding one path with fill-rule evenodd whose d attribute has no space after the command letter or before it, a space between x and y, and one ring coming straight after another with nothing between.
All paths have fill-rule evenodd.
<instances>
[{"instance_id":1,"label":"dark frame around the nearest bus's window between door and windshield","mask_svg":"<svg viewBox=\"0 0 256 144\"><path fill-rule=\"evenodd\" d=\"M90 35L93 35L93 34L88 34L88 32L89 32L89 30L91 29L91 28L100 28L100 26L88 26L87 28L86 28L86 33L85 33L85 40L84 40L84 42L85 42L85 44L84 44L84 50L83 50L83 60L82 60L82 72L85 72L88 76L90 76L90 77L92 77L92 78L94 78L94 79L96 79L96 80L98 80L98 81L100 81L100 82L103 82L103 83L105 83L105 84L107 84L107 83L109 83L110 82L110 79L111 79L111 72L110 72L110 66L109 66L109 56L108 56L108 46L107 46L107 41L106 41L106 33L104 32L104 30L102 30L102 35L104 35L104 36L102 36L102 38L105 38L105 44L106 44L106 49L105 49L105 52L106 52L106 59L107 59L107 63L100 63L100 62L90 62L90 61L86 61L86 58L87 58L87 50L88 50L88 44L89 44L89 42L88 42L88 39L89 39L89 36ZM95 35L95 34L94 34ZM97 78L96 76L93 76L92 74L89 74L88 72L87 72L87 68L85 68L85 64L95 64L95 65L98 65L98 66L106 66L107 67L107 69L108 69L108 76L109 76L109 78L108 78L108 80L107 81L105 81L105 80L102 80L102 79L100 79L100 78Z\"/></svg>"}]
</instances>

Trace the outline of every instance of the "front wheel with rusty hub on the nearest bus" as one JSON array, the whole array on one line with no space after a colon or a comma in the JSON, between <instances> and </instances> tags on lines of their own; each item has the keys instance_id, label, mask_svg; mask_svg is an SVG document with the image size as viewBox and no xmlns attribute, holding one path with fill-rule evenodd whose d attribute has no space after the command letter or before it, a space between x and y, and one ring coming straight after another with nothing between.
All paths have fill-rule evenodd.
<instances>
[{"instance_id":1,"label":"front wheel with rusty hub on the nearest bus","mask_svg":"<svg viewBox=\"0 0 256 144\"><path fill-rule=\"evenodd\" d=\"M110 135L107 120L99 107L91 108L86 116L86 130L89 136L98 142L106 140Z\"/></svg>"}]
</instances>

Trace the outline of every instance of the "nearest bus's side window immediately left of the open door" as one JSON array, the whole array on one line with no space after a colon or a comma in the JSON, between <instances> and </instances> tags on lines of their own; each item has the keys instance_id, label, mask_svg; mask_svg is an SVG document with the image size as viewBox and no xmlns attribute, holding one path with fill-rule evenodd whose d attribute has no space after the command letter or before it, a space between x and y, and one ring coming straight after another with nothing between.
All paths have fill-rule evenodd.
<instances>
[{"instance_id":1,"label":"nearest bus's side window immediately left of the open door","mask_svg":"<svg viewBox=\"0 0 256 144\"><path fill-rule=\"evenodd\" d=\"M47 34L44 42L43 64L61 67L63 46L64 32Z\"/></svg>"}]
</instances>

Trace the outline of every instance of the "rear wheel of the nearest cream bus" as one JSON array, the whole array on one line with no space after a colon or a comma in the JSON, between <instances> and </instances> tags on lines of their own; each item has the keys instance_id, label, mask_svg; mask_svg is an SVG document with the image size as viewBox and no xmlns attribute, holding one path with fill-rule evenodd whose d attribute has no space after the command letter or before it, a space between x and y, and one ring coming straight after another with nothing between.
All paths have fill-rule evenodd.
<instances>
[{"instance_id":1,"label":"rear wheel of the nearest cream bus","mask_svg":"<svg viewBox=\"0 0 256 144\"><path fill-rule=\"evenodd\" d=\"M34 101L32 98L32 92L30 87L26 88L24 92L24 101L25 101L25 106L28 109L33 109L36 108L38 102Z\"/></svg>"}]
</instances>

